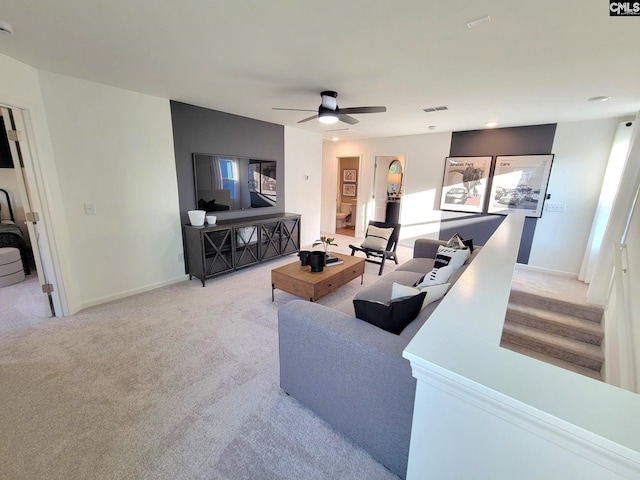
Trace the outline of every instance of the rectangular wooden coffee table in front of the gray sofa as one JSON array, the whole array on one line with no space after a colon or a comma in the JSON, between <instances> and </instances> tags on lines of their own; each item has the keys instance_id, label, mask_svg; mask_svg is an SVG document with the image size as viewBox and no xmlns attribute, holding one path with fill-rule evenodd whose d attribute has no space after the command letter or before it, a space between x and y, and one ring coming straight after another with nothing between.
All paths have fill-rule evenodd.
<instances>
[{"instance_id":1,"label":"rectangular wooden coffee table in front of the gray sofa","mask_svg":"<svg viewBox=\"0 0 640 480\"><path fill-rule=\"evenodd\" d=\"M271 270L271 301L275 300L276 288L285 292L308 298L313 302L337 290L354 278L364 279L364 258L332 253L344 263L324 267L322 272L311 272L311 267L301 266L300 261Z\"/></svg>"}]
</instances>

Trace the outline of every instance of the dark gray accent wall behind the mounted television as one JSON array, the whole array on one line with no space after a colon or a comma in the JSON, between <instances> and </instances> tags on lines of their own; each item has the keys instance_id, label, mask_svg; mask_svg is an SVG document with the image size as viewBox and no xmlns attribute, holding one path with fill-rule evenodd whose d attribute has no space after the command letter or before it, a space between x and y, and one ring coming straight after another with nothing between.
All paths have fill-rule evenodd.
<instances>
[{"instance_id":1,"label":"dark gray accent wall behind the mounted television","mask_svg":"<svg viewBox=\"0 0 640 480\"><path fill-rule=\"evenodd\" d=\"M278 204L276 207L216 212L219 219L284 212L284 127L282 125L173 100L170 104L182 223L189 222L187 211L196 208L193 153L235 155L277 162Z\"/></svg>"}]
</instances>

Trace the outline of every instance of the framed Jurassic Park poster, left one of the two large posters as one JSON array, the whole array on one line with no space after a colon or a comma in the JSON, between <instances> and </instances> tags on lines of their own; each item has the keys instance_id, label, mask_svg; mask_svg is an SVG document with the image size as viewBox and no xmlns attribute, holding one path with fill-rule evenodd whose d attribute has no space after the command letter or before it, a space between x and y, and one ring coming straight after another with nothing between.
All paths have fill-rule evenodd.
<instances>
[{"instance_id":1,"label":"framed Jurassic Park poster, left one of the two large posters","mask_svg":"<svg viewBox=\"0 0 640 480\"><path fill-rule=\"evenodd\" d=\"M440 210L482 213L493 157L447 157Z\"/></svg>"}]
</instances>

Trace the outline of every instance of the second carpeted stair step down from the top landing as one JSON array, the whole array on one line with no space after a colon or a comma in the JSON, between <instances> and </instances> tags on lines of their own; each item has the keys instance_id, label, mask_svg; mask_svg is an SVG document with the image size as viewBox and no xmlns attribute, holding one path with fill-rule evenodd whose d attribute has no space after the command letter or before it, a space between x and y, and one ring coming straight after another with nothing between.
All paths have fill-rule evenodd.
<instances>
[{"instance_id":1,"label":"second carpeted stair step down from the top landing","mask_svg":"<svg viewBox=\"0 0 640 480\"><path fill-rule=\"evenodd\" d=\"M601 345L604 338L599 323L526 305L509 303L506 320L593 345Z\"/></svg>"}]
</instances>

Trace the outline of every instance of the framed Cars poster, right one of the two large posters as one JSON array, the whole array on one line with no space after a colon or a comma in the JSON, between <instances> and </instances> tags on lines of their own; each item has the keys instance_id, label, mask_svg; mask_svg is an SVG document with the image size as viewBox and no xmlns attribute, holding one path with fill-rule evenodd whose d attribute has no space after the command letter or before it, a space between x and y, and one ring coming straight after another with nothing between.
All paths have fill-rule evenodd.
<instances>
[{"instance_id":1,"label":"framed Cars poster, right one of the two large posters","mask_svg":"<svg viewBox=\"0 0 640 480\"><path fill-rule=\"evenodd\" d=\"M553 154L496 157L489 213L508 215L517 212L527 217L540 217L552 163Z\"/></svg>"}]
</instances>

